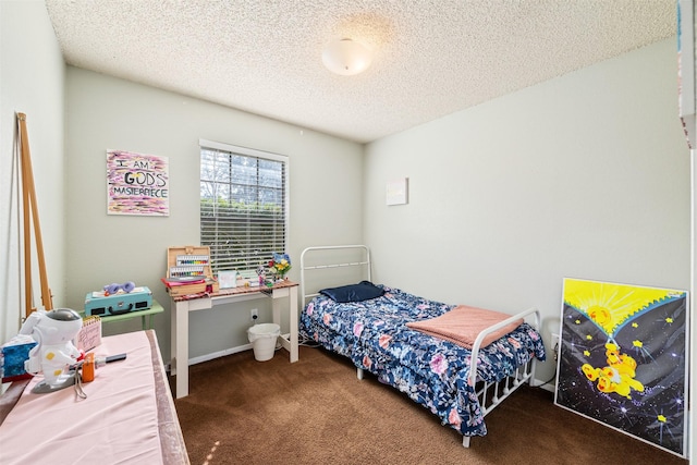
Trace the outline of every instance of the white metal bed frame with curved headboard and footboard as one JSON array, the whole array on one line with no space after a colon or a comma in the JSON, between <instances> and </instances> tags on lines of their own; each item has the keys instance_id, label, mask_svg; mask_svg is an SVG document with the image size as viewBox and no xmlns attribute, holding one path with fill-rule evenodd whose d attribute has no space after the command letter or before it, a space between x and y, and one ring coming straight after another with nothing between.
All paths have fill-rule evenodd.
<instances>
[{"instance_id":1,"label":"white metal bed frame with curved headboard and footboard","mask_svg":"<svg viewBox=\"0 0 697 465\"><path fill-rule=\"evenodd\" d=\"M363 250L365 254L365 259L353 261L353 262L341 262L341 264L322 264L322 265L306 265L305 255L311 254L315 252L321 250L340 250L340 249L355 249ZM370 249L365 245L331 245L331 246L318 246L318 247L307 247L301 254L301 294L303 296L303 307L307 305L309 299L319 295L317 292L308 293L307 291L307 281L305 277L306 271L311 270L327 270L330 268L341 268L341 267L366 267L367 269L367 280L371 281L371 262L370 262ZM517 390L521 386L525 383L529 383L533 386L533 381L535 380L535 365L536 358L533 357L530 362L518 367L511 376L503 378L500 381L488 382L488 381L477 381L477 362L479 350L481 348L481 342L491 332L497 331L500 328L505 327L518 319L533 318L534 319L534 328L540 328L540 314L539 310L535 307L528 308L527 310L521 311L519 314L513 315L510 318L493 325L477 335L475 343L472 347L472 367L469 369L469 384L475 386L475 390L477 393L477 399L479 400L479 405L481 406L482 416L487 416L496 406L501 404L509 395L511 395L515 390ZM364 370L363 368L356 368L356 376L358 379L363 379ZM462 445L465 448L469 448L470 436L462 437Z\"/></svg>"}]
</instances>

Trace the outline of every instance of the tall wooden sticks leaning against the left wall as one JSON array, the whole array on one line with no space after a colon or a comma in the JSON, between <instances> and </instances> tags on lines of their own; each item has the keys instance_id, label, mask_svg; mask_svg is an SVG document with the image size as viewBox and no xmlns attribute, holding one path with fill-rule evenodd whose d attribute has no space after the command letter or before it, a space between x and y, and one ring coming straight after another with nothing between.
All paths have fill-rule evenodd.
<instances>
[{"instance_id":1,"label":"tall wooden sticks leaning against the left wall","mask_svg":"<svg viewBox=\"0 0 697 465\"><path fill-rule=\"evenodd\" d=\"M39 223L39 210L36 201L36 188L34 184L34 172L32 170L32 155L29 152L29 137L26 131L26 114L17 113L17 124L20 127L20 149L22 164L22 203L23 203L23 228L24 228L24 291L25 291L25 316L29 316L36 310L32 298L32 236L30 229L34 223L34 234L36 236L36 249L39 265L39 279L41 281L41 303L47 310L53 309L53 296L48 285L46 273L46 257L44 256L44 240L41 238L41 225ZM29 221L29 211L32 219Z\"/></svg>"}]
</instances>

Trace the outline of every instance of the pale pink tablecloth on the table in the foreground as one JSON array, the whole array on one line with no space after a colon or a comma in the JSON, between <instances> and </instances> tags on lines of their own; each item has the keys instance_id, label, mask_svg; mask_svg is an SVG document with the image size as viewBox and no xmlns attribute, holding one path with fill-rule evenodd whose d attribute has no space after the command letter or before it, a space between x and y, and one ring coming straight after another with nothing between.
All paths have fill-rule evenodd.
<instances>
[{"instance_id":1,"label":"pale pink tablecloth on the table in the foreground","mask_svg":"<svg viewBox=\"0 0 697 465\"><path fill-rule=\"evenodd\" d=\"M95 371L87 399L32 389L0 425L0 464L162 463L150 342L143 331L103 338L93 352L126 354Z\"/></svg>"}]
</instances>

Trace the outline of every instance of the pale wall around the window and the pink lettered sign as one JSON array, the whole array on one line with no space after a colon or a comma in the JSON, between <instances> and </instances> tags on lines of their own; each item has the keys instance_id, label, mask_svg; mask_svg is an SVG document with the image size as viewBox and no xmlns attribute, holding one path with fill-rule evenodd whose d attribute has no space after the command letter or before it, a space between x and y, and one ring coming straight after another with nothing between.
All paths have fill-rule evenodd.
<instances>
[{"instance_id":1,"label":"pale wall around the window and the pink lettered sign","mask_svg":"<svg viewBox=\"0 0 697 465\"><path fill-rule=\"evenodd\" d=\"M166 362L170 302L160 278L168 247L200 243L199 138L290 157L289 253L297 260L291 279L299 279L304 247L360 241L360 145L72 66L66 89L69 303L83 308L86 293L111 282L149 286L166 308L156 317ZM107 149L169 157L169 217L107 215ZM259 321L270 321L264 301L192 314L189 356L246 344L252 307L259 308ZM139 325L108 323L105 332Z\"/></svg>"}]
</instances>

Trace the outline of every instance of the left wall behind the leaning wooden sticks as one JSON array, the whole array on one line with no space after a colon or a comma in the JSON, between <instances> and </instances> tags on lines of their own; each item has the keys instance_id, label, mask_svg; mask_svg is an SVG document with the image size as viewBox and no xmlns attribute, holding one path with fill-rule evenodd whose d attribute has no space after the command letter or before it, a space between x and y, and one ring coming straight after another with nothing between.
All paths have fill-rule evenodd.
<instances>
[{"instance_id":1,"label":"left wall behind the leaning wooden sticks","mask_svg":"<svg viewBox=\"0 0 697 465\"><path fill-rule=\"evenodd\" d=\"M24 310L16 112L26 113L39 223L53 306L65 299L63 93L65 65L40 0L0 1L0 343ZM20 196L20 197L19 197ZM36 258L36 248L33 248ZM33 273L39 290L38 269ZM42 307L40 293L35 305Z\"/></svg>"}]
</instances>

